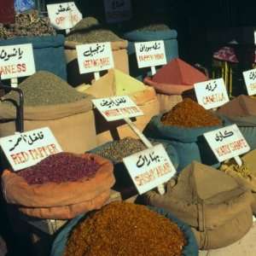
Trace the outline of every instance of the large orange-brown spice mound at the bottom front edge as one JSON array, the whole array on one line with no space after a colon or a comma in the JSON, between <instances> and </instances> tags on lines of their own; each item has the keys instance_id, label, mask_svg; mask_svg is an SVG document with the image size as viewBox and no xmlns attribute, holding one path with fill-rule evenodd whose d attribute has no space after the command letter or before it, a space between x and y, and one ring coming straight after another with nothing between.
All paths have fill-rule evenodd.
<instances>
[{"instance_id":1,"label":"large orange-brown spice mound at the bottom front edge","mask_svg":"<svg viewBox=\"0 0 256 256\"><path fill-rule=\"evenodd\" d=\"M113 202L78 224L64 256L179 256L185 245L177 224L127 202Z\"/></svg>"}]
</instances>

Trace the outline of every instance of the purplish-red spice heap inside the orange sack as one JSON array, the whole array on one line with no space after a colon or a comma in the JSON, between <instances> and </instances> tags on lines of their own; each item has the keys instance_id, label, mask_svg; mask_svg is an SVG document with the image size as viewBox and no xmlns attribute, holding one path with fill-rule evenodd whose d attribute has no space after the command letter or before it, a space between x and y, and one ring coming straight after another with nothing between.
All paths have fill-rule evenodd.
<instances>
[{"instance_id":1,"label":"purplish-red spice heap inside the orange sack","mask_svg":"<svg viewBox=\"0 0 256 256\"><path fill-rule=\"evenodd\" d=\"M24 177L28 184L64 183L93 177L99 167L93 157L84 159L72 153L58 153L21 170L18 175Z\"/></svg>"}]
</instances>

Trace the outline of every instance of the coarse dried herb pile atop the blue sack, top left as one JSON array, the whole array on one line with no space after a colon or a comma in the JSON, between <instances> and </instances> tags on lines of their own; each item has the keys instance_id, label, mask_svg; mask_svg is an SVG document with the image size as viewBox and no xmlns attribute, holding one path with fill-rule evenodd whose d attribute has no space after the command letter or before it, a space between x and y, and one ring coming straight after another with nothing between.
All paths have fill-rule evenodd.
<instances>
[{"instance_id":1,"label":"coarse dried herb pile atop the blue sack, top left","mask_svg":"<svg viewBox=\"0 0 256 256\"><path fill-rule=\"evenodd\" d=\"M38 11L15 15L15 24L0 23L0 39L17 37L39 37L55 35L55 29L50 25L48 17L40 17Z\"/></svg>"}]
</instances>

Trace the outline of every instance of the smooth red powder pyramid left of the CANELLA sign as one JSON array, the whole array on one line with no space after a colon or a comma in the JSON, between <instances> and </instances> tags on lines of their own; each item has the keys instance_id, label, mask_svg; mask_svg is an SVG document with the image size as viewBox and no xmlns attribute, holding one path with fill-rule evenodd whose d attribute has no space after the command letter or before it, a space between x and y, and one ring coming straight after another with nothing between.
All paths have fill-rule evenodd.
<instances>
[{"instance_id":1,"label":"smooth red powder pyramid left of the CANELLA sign","mask_svg":"<svg viewBox=\"0 0 256 256\"><path fill-rule=\"evenodd\" d=\"M179 58L173 59L154 74L156 83L193 85L207 81L207 76Z\"/></svg>"}]
</instances>

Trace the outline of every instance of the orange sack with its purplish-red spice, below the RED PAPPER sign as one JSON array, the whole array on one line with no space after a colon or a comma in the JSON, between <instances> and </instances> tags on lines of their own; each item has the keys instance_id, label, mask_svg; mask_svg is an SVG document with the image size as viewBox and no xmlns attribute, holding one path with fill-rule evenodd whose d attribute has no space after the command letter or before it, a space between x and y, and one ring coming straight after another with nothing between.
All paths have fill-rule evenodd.
<instances>
[{"instance_id":1,"label":"orange sack with its purplish-red spice, below the RED PAPPER sign","mask_svg":"<svg viewBox=\"0 0 256 256\"><path fill-rule=\"evenodd\" d=\"M108 201L113 165L96 154L62 152L20 172L4 170L2 183L6 201L26 215L74 218Z\"/></svg>"}]
</instances>

